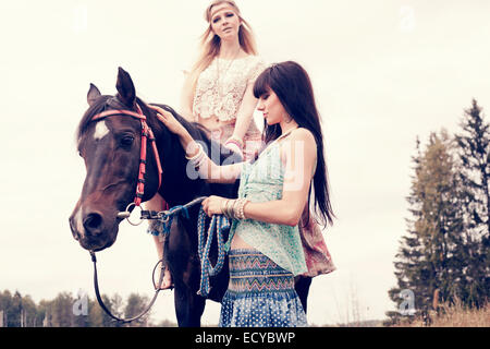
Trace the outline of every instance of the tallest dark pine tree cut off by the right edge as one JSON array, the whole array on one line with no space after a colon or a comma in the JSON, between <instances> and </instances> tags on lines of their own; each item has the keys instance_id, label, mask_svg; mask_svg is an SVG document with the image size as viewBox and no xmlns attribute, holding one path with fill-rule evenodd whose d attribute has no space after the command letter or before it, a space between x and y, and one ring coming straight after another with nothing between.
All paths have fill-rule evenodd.
<instances>
[{"instance_id":1,"label":"tallest dark pine tree cut off by the right edge","mask_svg":"<svg viewBox=\"0 0 490 349\"><path fill-rule=\"evenodd\" d=\"M473 99L461 122L458 145L460 178L464 184L464 248L467 267L462 289L465 303L481 306L490 296L490 125L482 108Z\"/></svg>"}]
</instances>

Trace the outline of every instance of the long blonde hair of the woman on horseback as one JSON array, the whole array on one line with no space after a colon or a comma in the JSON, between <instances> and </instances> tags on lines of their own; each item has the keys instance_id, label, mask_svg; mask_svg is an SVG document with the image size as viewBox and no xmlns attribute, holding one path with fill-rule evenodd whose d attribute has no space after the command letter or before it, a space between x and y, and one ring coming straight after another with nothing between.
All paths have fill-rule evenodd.
<instances>
[{"instance_id":1,"label":"long blonde hair of the woman on horseback","mask_svg":"<svg viewBox=\"0 0 490 349\"><path fill-rule=\"evenodd\" d=\"M212 0L205 11L205 20L209 23L209 26L200 37L200 53L189 72L188 79L191 80L193 94L196 89L197 80L199 79L200 73L205 71L220 53L221 39L211 28L211 9L221 3L231 5L242 21L242 25L238 29L238 41L242 49L248 55L257 56L257 44L254 38L254 32L252 31L250 25L242 17L236 3L233 0Z\"/></svg>"}]
</instances>

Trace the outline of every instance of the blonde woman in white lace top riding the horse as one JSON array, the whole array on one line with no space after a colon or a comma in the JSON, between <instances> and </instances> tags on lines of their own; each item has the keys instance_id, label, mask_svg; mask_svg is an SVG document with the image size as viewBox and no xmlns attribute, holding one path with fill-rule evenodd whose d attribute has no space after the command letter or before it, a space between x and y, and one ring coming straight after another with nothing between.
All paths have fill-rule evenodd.
<instances>
[{"instance_id":1,"label":"blonde woman in white lace top riding the horse","mask_svg":"<svg viewBox=\"0 0 490 349\"><path fill-rule=\"evenodd\" d=\"M205 11L208 27L201 37L201 52L181 95L180 113L188 121L209 130L209 136L223 146L252 159L261 146L261 133L253 115L258 99L253 87L265 63L248 23L232 0L215 0ZM161 210L164 201L156 195L146 204L148 209ZM148 230L157 236L161 227L150 224ZM156 238L160 258L162 241ZM166 272L162 289L171 287Z\"/></svg>"}]
</instances>

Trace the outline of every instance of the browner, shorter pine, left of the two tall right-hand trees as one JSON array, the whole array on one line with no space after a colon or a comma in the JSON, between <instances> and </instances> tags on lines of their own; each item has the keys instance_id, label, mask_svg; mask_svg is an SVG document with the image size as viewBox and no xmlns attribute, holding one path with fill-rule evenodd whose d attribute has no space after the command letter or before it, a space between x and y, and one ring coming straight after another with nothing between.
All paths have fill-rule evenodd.
<instances>
[{"instance_id":1,"label":"browner, shorter pine, left of the two tall right-hand trees","mask_svg":"<svg viewBox=\"0 0 490 349\"><path fill-rule=\"evenodd\" d=\"M458 210L460 185L455 176L452 142L445 131L432 133L424 153L417 140L417 156L413 158L415 176L407 197L412 217L407 219L408 234L402 238L394 262L397 286L389 291L397 303L400 292L411 290L420 314L429 309L436 290L443 299L454 293L460 276L455 267L455 248L463 217ZM394 312L388 313L393 322Z\"/></svg>"}]
</instances>

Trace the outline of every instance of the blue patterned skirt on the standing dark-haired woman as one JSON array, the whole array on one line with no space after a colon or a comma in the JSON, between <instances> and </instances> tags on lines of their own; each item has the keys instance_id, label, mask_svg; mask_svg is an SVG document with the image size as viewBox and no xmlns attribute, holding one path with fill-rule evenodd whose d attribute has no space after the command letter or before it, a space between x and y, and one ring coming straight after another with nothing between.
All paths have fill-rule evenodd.
<instances>
[{"instance_id":1,"label":"blue patterned skirt on the standing dark-haired woman","mask_svg":"<svg viewBox=\"0 0 490 349\"><path fill-rule=\"evenodd\" d=\"M220 327L306 327L294 276L256 250L231 250Z\"/></svg>"}]
</instances>

